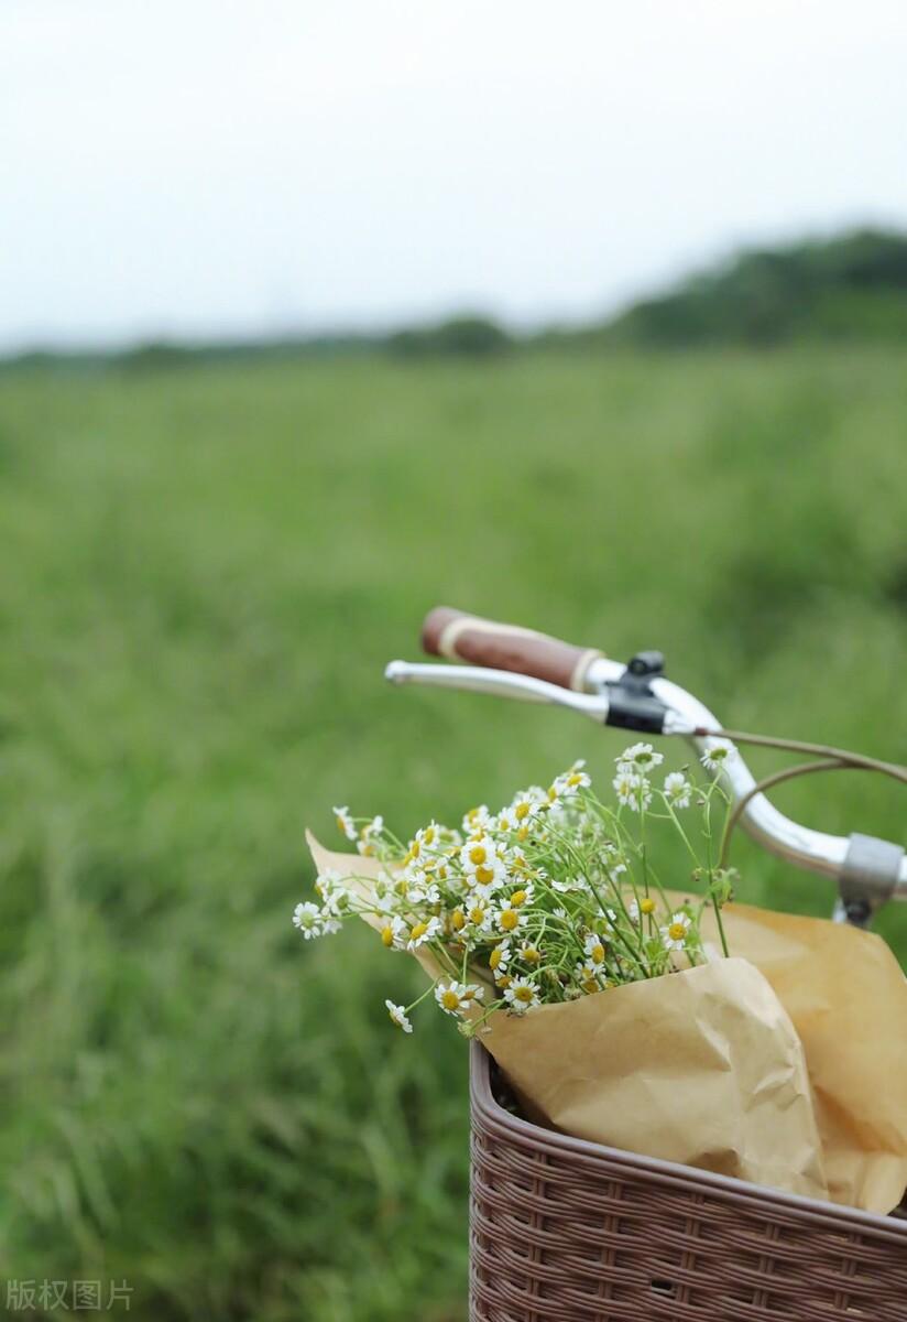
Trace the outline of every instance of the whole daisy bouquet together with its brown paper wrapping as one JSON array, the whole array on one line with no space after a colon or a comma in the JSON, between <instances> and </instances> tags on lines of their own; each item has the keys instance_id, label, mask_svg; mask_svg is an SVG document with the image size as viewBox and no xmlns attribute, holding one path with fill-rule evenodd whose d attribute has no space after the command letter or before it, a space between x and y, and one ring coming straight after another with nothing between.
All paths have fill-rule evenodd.
<instances>
[{"instance_id":1,"label":"whole daisy bouquet together with its brown paper wrapping","mask_svg":"<svg viewBox=\"0 0 907 1322\"><path fill-rule=\"evenodd\" d=\"M713 740L702 760L714 772L733 756ZM907 1170L903 1117L885 1109L885 1080L903 1075L903 1015L877 1009L907 994L896 961L837 924L722 914L727 798L694 765L665 776L661 764L636 743L606 796L574 763L495 813L430 821L407 841L382 817L335 808L355 849L309 837L317 900L293 921L312 939L362 917L384 948L413 954L429 981L409 1005L386 1002L392 1023L412 1032L433 1001L479 1035L536 1122L889 1210ZM675 838L656 841L663 832ZM861 1042L874 1017L870 1068ZM861 1032L829 1032L852 1022Z\"/></svg>"}]
</instances>

